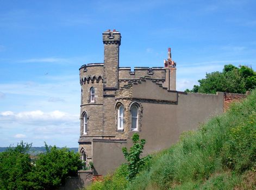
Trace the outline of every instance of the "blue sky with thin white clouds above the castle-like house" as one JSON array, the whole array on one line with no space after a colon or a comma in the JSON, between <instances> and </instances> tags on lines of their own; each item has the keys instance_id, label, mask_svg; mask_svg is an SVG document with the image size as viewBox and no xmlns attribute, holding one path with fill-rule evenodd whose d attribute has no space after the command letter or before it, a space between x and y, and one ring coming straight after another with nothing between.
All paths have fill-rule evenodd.
<instances>
[{"instance_id":1,"label":"blue sky with thin white clouds above the castle-like house","mask_svg":"<svg viewBox=\"0 0 256 190\"><path fill-rule=\"evenodd\" d=\"M172 48L177 90L226 64L256 69L256 1L0 0L0 147L78 147L80 66L122 35L120 67L159 67Z\"/></svg>"}]
</instances>

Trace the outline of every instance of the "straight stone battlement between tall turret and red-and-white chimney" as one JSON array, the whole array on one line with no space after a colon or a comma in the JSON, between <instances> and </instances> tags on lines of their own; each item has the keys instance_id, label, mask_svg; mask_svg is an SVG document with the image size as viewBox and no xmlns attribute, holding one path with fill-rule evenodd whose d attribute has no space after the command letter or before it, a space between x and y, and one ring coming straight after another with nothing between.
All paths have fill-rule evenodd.
<instances>
[{"instance_id":1,"label":"straight stone battlement between tall turret and red-and-white chimney","mask_svg":"<svg viewBox=\"0 0 256 190\"><path fill-rule=\"evenodd\" d=\"M134 67L134 71L130 67L118 68L120 80L139 80L141 77L150 76L157 80L165 80L164 67Z\"/></svg>"}]
</instances>

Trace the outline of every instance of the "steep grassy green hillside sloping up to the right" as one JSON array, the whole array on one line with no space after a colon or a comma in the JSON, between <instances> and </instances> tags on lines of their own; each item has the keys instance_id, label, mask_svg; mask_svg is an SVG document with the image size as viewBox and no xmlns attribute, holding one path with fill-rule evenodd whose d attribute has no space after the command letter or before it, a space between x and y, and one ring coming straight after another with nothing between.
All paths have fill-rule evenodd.
<instances>
[{"instance_id":1,"label":"steep grassy green hillside sloping up to the right","mask_svg":"<svg viewBox=\"0 0 256 190\"><path fill-rule=\"evenodd\" d=\"M127 170L87 189L256 189L256 91L152 155L134 180Z\"/></svg>"}]
</instances>

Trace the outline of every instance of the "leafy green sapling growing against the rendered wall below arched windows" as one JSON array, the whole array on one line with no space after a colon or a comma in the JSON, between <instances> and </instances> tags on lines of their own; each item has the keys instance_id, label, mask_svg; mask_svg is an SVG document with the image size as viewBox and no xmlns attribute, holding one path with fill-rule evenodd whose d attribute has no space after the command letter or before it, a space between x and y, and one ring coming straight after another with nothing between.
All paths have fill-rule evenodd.
<instances>
[{"instance_id":1,"label":"leafy green sapling growing against the rendered wall below arched windows","mask_svg":"<svg viewBox=\"0 0 256 190\"><path fill-rule=\"evenodd\" d=\"M144 167L146 160L150 159L149 156L140 158L143 147L146 143L146 140L140 140L140 136L138 134L134 134L132 137L133 146L130 148L130 152L128 152L127 148L122 148L123 155L127 160L128 164L128 179L132 180L135 176L140 172L140 170Z\"/></svg>"}]
</instances>

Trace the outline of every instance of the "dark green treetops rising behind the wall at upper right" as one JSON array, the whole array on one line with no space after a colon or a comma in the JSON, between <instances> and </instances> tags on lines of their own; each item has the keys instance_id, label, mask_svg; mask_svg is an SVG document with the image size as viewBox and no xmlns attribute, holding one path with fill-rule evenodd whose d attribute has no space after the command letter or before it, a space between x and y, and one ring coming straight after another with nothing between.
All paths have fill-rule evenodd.
<instances>
[{"instance_id":1,"label":"dark green treetops rising behind the wall at upper right","mask_svg":"<svg viewBox=\"0 0 256 190\"><path fill-rule=\"evenodd\" d=\"M199 86L185 92L211 93L232 92L245 93L256 87L256 72L248 66L225 65L223 72L207 73L204 79L198 80Z\"/></svg>"}]
</instances>

